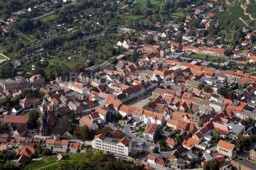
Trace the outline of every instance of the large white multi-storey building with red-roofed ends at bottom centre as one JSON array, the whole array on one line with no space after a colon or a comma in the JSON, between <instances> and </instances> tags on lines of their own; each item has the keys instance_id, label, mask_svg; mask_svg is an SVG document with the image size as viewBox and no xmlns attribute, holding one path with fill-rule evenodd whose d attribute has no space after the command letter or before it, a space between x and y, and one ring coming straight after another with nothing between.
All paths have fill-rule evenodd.
<instances>
[{"instance_id":1,"label":"large white multi-storey building with red-roofed ends at bottom centre","mask_svg":"<svg viewBox=\"0 0 256 170\"><path fill-rule=\"evenodd\" d=\"M128 156L131 153L132 145L125 138L118 140L106 137L103 133L100 133L92 140L92 148L103 152Z\"/></svg>"}]
</instances>

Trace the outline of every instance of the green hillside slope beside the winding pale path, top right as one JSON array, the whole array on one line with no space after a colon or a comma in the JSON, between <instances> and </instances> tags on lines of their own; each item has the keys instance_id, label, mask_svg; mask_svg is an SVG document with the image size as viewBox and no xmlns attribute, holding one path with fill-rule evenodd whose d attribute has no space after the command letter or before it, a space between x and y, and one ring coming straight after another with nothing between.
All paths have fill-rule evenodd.
<instances>
[{"instance_id":1,"label":"green hillside slope beside the winding pale path, top right","mask_svg":"<svg viewBox=\"0 0 256 170\"><path fill-rule=\"evenodd\" d=\"M230 5L227 6L227 9L224 12L217 12L217 17L220 20L225 20L228 18L232 22L234 22L239 27L246 26L239 17L244 17L244 10L241 8L241 3L245 3L245 0L236 0L233 1Z\"/></svg>"}]
</instances>

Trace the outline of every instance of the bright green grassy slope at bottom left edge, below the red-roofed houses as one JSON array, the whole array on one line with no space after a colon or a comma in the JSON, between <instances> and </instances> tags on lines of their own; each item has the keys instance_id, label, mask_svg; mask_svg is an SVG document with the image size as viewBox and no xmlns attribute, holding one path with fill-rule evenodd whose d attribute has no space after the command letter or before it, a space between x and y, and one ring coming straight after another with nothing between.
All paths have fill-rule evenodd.
<instances>
[{"instance_id":1,"label":"bright green grassy slope at bottom left edge, below the red-roofed houses","mask_svg":"<svg viewBox=\"0 0 256 170\"><path fill-rule=\"evenodd\" d=\"M69 155L69 160L82 160L84 158L84 154L83 153L72 153L72 154L68 154ZM39 160L39 161L31 161L30 164L28 164L27 166L25 166L23 169L44 169L44 170L54 170L57 169L58 166L58 162L57 161L57 155L52 156L52 157L48 157L46 159L43 160ZM61 160L63 161L63 160Z\"/></svg>"}]
</instances>

